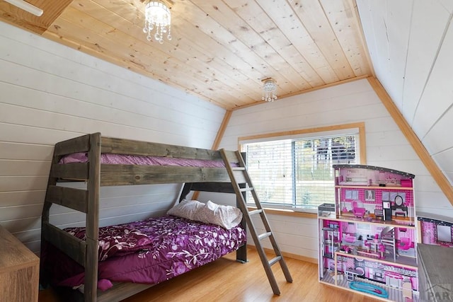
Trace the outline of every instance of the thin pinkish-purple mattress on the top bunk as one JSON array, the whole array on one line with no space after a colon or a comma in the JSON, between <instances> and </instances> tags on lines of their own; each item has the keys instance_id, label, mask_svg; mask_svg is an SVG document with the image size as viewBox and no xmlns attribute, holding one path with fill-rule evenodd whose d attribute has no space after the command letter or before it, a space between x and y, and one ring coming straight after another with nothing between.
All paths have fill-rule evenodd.
<instances>
[{"instance_id":1,"label":"thin pinkish-purple mattress on the top bunk","mask_svg":"<svg viewBox=\"0 0 453 302\"><path fill-rule=\"evenodd\" d=\"M88 156L86 153L72 153L64 156L59 163L86 163ZM178 165L182 167L205 167L205 168L224 168L223 161L192 159L192 158L173 158L164 156L139 156L127 154L102 153L101 163L123 164L123 165ZM237 166L237 163L231 163Z\"/></svg>"}]
</instances>

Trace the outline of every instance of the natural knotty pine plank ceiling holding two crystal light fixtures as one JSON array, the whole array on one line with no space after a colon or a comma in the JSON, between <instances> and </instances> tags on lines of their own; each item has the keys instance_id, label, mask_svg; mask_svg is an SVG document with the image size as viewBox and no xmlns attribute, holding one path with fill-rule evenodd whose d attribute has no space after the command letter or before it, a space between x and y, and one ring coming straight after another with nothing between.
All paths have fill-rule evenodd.
<instances>
[{"instance_id":1,"label":"natural knotty pine plank ceiling holding two crystal light fixtures","mask_svg":"<svg viewBox=\"0 0 453 302\"><path fill-rule=\"evenodd\" d=\"M261 103L372 75L355 0L174 0L171 41L148 42L142 0L0 0L0 20L210 101ZM145 1L146 3L146 1Z\"/></svg>"}]
</instances>

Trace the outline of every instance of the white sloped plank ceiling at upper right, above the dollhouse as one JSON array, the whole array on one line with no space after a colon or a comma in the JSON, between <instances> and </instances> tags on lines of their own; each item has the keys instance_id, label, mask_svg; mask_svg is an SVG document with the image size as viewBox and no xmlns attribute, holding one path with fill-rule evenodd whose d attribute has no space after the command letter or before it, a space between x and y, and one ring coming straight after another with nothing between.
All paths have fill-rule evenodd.
<instances>
[{"instance_id":1,"label":"white sloped plank ceiling at upper right, above the dollhouse","mask_svg":"<svg viewBox=\"0 0 453 302\"><path fill-rule=\"evenodd\" d=\"M442 171L435 178L453 204L453 1L357 0L357 7L376 77ZM442 197L430 202L451 209Z\"/></svg>"}]
</instances>

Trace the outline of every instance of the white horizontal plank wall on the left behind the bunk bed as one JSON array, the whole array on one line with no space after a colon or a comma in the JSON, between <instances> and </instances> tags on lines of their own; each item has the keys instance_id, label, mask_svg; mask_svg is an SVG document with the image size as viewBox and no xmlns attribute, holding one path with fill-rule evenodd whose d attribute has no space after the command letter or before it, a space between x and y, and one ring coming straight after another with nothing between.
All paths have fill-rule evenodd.
<instances>
[{"instance_id":1,"label":"white horizontal plank wall on the left behind the bunk bed","mask_svg":"<svg viewBox=\"0 0 453 302\"><path fill-rule=\"evenodd\" d=\"M209 149L225 113L6 23L0 23L0 91L0 224L33 252L40 248L40 214L55 142L102 132ZM161 214L179 189L103 187L101 224ZM52 207L51 213L58 226L84 221L84 215L62 207Z\"/></svg>"}]
</instances>

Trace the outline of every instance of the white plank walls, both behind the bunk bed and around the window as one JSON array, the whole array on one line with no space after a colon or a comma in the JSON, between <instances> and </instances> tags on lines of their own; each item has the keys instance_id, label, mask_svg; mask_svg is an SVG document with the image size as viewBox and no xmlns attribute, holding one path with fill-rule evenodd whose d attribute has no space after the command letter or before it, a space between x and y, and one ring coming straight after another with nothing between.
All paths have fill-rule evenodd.
<instances>
[{"instance_id":1,"label":"white plank walls, both behind the bunk bed and around the window","mask_svg":"<svg viewBox=\"0 0 453 302\"><path fill-rule=\"evenodd\" d=\"M224 117L224 110L210 103L6 23L0 23L0 89L0 223L34 252L39 251L40 211L56 141L101 131L210 148ZM419 208L453 216L366 80L236 110L219 147L237 149L237 137L362 121L368 164L415 174ZM157 199L163 203L154 204L154 210L162 211L177 189L104 188L102 223L148 215L149 202ZM235 202L226 194L200 199ZM60 208L52 213L62 226L83 220ZM270 219L283 251L316 258L314 219L274 214Z\"/></svg>"}]
</instances>

